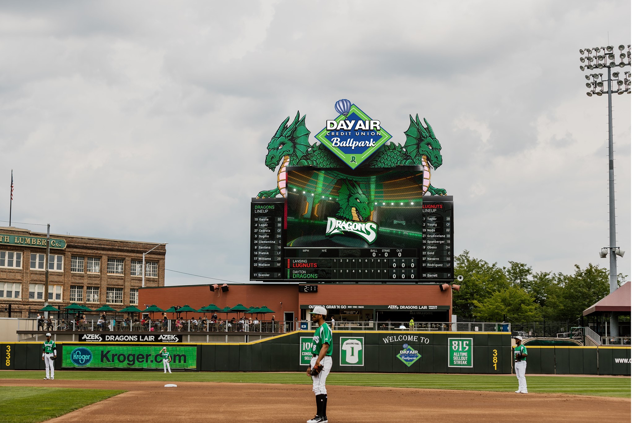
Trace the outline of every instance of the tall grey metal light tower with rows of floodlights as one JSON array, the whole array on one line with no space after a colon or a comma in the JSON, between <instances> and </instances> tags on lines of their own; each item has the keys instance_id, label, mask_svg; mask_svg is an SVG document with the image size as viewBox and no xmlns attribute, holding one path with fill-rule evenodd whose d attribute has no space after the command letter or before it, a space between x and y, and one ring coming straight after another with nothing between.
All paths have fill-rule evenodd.
<instances>
[{"instance_id":1,"label":"tall grey metal light tower with rows of floodlights","mask_svg":"<svg viewBox=\"0 0 634 423\"><path fill-rule=\"evenodd\" d=\"M581 63L579 68L582 72L586 70L595 71L596 69L605 69L607 77L604 77L602 73L585 75L586 87L590 89L586 93L589 97L594 95L602 96L607 94L607 154L608 154L608 172L609 172L609 198L610 198L610 246L601 249L599 256L605 258L610 256L610 292L614 292L617 288L616 285L616 256L623 257L625 251L619 249L616 246L616 218L614 213L614 148L612 146L612 93L616 92L618 95L623 93L631 94L631 71L623 72L623 79L621 79L620 72L612 72L616 68L623 68L630 66L631 68L631 44L627 46L627 53L625 53L626 47L621 44L618 47L618 59L619 63L616 63L617 53L614 50L614 46L607 47L595 47L579 49L581 57ZM612 90L612 81L616 82L616 90ZM605 84L607 83L607 91L605 91ZM619 320L616 312L612 311L610 316L610 335L619 335ZM607 334L605 334L607 336Z\"/></svg>"}]
</instances>

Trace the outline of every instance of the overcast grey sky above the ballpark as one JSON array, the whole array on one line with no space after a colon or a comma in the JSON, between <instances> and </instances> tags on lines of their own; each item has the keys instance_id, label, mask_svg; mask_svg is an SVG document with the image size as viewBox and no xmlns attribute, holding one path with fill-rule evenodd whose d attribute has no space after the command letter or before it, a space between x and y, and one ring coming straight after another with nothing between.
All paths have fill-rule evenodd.
<instances>
[{"instance_id":1,"label":"overcast grey sky above the ballpark","mask_svg":"<svg viewBox=\"0 0 634 423\"><path fill-rule=\"evenodd\" d=\"M3 2L0 220L13 167L13 221L168 242L168 269L247 282L268 141L299 110L315 142L347 98L396 143L409 114L433 126L456 253L608 267L607 96L586 96L578 50L629 44L630 16L628 1ZM613 100L631 275L631 96Z\"/></svg>"}]
</instances>

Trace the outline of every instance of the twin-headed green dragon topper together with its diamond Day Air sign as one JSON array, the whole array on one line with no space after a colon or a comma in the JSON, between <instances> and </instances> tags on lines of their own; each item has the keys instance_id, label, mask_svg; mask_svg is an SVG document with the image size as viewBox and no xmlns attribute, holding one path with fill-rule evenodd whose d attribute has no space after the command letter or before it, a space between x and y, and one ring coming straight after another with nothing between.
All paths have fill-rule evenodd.
<instances>
[{"instance_id":1,"label":"twin-headed green dragon topper together with its diamond Day Air sign","mask_svg":"<svg viewBox=\"0 0 634 423\"><path fill-rule=\"evenodd\" d=\"M337 101L339 104L341 101ZM346 100L347 101L347 100ZM347 103L350 103L347 101ZM443 188L434 188L430 183L431 170L436 170L443 164L443 155L441 155L441 145L434 134L429 122L423 119L425 124L420 122L418 115L413 118L410 115L410 126L404 132L405 142L403 145L396 144L392 141L387 142L391 135L384 131L384 129L376 129L375 135L372 135L372 124L378 121L370 120L356 105L350 104L349 110L346 112L346 108L337 108L339 117L335 119L335 129L328 130L325 127L317 138L319 143L309 143L309 136L311 131L306 128L306 115L299 117L299 112L295 115L295 119L288 125L290 116L287 117L278 127L278 130L271 141L269 141L266 147L268 152L266 154L265 164L277 172L277 186L273 190L261 191L257 194L258 198L277 197L281 195L286 197L286 173L287 166L313 166L320 169L338 168L342 167L345 163L346 166L350 166L353 169L361 168L391 168L395 166L423 166L423 195L430 193L431 195L446 195L446 190ZM354 116L357 117L354 117ZM355 120L353 126L352 122ZM333 122L334 122L333 121ZM344 122L344 123L342 123ZM363 123L365 127L366 123L369 125L368 129L359 129L359 122ZM350 127L351 129L344 129ZM341 129L336 128L341 125ZM378 127L380 128L380 126ZM375 139L377 131L381 133L381 138ZM342 135L336 135L336 133L350 133L345 138ZM356 135L359 132L359 136ZM385 134L383 135L383 133ZM330 133L330 135L329 135ZM361 133L370 133L365 135L368 140L361 140ZM335 138L339 138L339 144L332 146ZM357 144L354 144L354 140L349 143L348 138L355 138ZM363 146L360 145L363 141ZM325 143L330 143L327 146ZM342 145L344 143L345 145ZM354 150L353 150L354 147ZM349 151L347 151L349 149ZM339 152L339 154L335 154ZM362 151L363 150L363 151ZM367 160L366 160L367 159ZM279 166L279 167L278 167Z\"/></svg>"}]
</instances>

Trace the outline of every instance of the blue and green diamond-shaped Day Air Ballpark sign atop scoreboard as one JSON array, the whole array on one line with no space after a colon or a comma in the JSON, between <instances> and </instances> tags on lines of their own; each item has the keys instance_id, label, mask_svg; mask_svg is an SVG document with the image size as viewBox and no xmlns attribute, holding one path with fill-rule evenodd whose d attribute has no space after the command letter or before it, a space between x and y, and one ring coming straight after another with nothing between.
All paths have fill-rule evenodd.
<instances>
[{"instance_id":1,"label":"blue and green diamond-shaped Day Air Ballpark sign atop scoreboard","mask_svg":"<svg viewBox=\"0 0 634 423\"><path fill-rule=\"evenodd\" d=\"M340 124L342 120L344 124ZM347 116L339 115L335 119L339 129L324 127L315 138L354 169L392 138L382 127L372 128L371 120L353 104Z\"/></svg>"}]
</instances>

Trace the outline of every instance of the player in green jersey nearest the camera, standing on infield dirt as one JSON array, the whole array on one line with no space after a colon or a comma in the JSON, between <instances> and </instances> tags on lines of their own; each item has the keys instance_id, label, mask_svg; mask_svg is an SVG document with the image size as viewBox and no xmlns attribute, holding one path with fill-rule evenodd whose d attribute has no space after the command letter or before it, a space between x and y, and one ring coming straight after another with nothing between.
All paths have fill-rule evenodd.
<instances>
[{"instance_id":1,"label":"player in green jersey nearest the camera, standing on infield dirt","mask_svg":"<svg viewBox=\"0 0 634 423\"><path fill-rule=\"evenodd\" d=\"M311 367L306 369L306 374L313 377L317 413L313 419L307 420L306 423L328 423L328 417L326 417L328 402L326 378L330 373L330 368L332 368L332 330L325 322L326 314L326 308L322 306L316 306L311 311L313 323L317 323L319 327L313 335L313 358L311 359Z\"/></svg>"}]
</instances>

